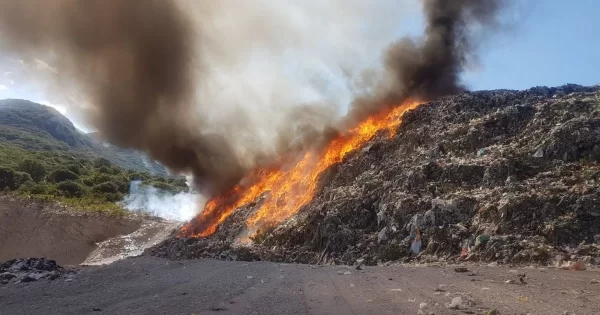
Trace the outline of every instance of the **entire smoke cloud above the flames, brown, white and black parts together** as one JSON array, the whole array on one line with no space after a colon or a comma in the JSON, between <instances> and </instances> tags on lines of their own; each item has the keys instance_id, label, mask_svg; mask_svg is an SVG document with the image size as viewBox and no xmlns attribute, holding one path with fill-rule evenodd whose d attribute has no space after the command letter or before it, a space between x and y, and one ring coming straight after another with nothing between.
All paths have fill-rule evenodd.
<instances>
[{"instance_id":1,"label":"entire smoke cloud above the flames, brown, white and black parts together","mask_svg":"<svg viewBox=\"0 0 600 315\"><path fill-rule=\"evenodd\" d=\"M218 193L386 106L461 91L501 0L420 5L424 36L383 69L414 1L2 0L0 40L42 55L106 140Z\"/></svg>"}]
</instances>

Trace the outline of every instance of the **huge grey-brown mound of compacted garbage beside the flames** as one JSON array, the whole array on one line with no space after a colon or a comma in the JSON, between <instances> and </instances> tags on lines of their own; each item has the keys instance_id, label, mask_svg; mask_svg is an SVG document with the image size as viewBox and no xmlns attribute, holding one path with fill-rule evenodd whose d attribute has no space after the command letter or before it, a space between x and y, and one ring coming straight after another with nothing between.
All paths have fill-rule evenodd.
<instances>
[{"instance_id":1,"label":"huge grey-brown mound of compacted garbage beside the flames","mask_svg":"<svg viewBox=\"0 0 600 315\"><path fill-rule=\"evenodd\" d=\"M148 254L311 264L600 263L600 87L443 97L322 175L287 222L236 245L238 209L209 238Z\"/></svg>"}]
</instances>

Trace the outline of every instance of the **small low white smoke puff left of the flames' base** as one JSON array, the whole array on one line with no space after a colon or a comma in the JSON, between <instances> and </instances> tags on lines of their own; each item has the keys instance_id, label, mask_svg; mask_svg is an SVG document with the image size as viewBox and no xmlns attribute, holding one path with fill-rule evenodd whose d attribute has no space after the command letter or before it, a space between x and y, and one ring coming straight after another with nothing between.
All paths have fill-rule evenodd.
<instances>
[{"instance_id":1,"label":"small low white smoke puff left of the flames' base","mask_svg":"<svg viewBox=\"0 0 600 315\"><path fill-rule=\"evenodd\" d=\"M143 185L141 181L130 184L129 195L121 202L125 209L134 212L148 213L171 221L189 221L197 211L198 205L204 204L205 198L194 192L173 194L152 186Z\"/></svg>"}]
</instances>

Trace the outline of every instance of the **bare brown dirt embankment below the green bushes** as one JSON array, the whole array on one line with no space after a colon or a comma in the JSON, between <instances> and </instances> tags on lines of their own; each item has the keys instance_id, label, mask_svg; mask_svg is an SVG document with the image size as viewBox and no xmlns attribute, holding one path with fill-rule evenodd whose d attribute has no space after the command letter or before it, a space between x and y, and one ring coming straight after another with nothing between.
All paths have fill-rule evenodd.
<instances>
[{"instance_id":1,"label":"bare brown dirt embankment below the green bushes","mask_svg":"<svg viewBox=\"0 0 600 315\"><path fill-rule=\"evenodd\" d=\"M45 257L61 265L80 264L98 247L97 243L133 233L145 220L0 196L0 261Z\"/></svg>"}]
</instances>

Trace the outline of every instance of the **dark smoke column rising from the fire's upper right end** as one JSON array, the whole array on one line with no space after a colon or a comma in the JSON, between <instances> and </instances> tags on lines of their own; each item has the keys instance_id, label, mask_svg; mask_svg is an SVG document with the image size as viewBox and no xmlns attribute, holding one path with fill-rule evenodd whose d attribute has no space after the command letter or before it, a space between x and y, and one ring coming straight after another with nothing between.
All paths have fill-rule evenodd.
<instances>
[{"instance_id":1,"label":"dark smoke column rising from the fire's upper right end","mask_svg":"<svg viewBox=\"0 0 600 315\"><path fill-rule=\"evenodd\" d=\"M477 62L482 38L498 30L504 0L422 0L424 36L404 37L385 51L373 92L357 97L346 117L355 124L408 98L428 101L465 90L460 75Z\"/></svg>"}]
</instances>

